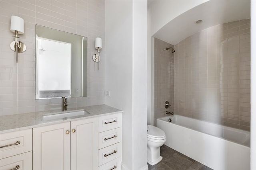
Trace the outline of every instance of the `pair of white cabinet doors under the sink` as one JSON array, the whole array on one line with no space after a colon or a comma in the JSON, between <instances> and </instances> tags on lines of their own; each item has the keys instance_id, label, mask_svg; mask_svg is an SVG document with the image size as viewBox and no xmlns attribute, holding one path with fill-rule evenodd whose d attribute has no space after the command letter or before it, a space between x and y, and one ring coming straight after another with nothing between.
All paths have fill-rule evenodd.
<instances>
[{"instance_id":1,"label":"pair of white cabinet doors under the sink","mask_svg":"<svg viewBox=\"0 0 256 170\"><path fill-rule=\"evenodd\" d=\"M98 117L33 129L34 170L96 170Z\"/></svg>"}]
</instances>

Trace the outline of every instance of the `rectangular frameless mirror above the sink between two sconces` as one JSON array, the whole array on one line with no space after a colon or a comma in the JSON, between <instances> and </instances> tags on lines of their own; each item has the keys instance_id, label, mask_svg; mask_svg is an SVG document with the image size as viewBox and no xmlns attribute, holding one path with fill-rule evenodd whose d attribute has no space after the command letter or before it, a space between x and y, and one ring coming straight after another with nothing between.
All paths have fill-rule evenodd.
<instances>
[{"instance_id":1,"label":"rectangular frameless mirror above the sink between two sconces","mask_svg":"<svg viewBox=\"0 0 256 170\"><path fill-rule=\"evenodd\" d=\"M36 99L87 96L87 37L36 25Z\"/></svg>"}]
</instances>

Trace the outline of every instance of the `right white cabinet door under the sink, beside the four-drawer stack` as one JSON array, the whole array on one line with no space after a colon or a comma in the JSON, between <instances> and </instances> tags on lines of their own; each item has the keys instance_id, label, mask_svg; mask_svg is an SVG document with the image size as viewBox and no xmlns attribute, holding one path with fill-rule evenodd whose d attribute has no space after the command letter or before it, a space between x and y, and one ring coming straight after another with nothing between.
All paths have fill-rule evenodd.
<instances>
[{"instance_id":1,"label":"right white cabinet door under the sink, beside the four-drawer stack","mask_svg":"<svg viewBox=\"0 0 256 170\"><path fill-rule=\"evenodd\" d=\"M98 169L98 117L71 121L71 170Z\"/></svg>"}]
</instances>

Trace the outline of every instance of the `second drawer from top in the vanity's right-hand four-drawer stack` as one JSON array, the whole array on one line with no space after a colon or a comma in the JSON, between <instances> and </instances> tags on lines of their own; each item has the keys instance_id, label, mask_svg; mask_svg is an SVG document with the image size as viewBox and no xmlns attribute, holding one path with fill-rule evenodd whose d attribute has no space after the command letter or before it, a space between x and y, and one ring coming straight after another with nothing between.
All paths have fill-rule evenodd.
<instances>
[{"instance_id":1,"label":"second drawer from top in the vanity's right-hand four-drawer stack","mask_svg":"<svg viewBox=\"0 0 256 170\"><path fill-rule=\"evenodd\" d=\"M121 136L121 127L99 133L98 148L102 149L104 147L121 142Z\"/></svg>"}]
</instances>

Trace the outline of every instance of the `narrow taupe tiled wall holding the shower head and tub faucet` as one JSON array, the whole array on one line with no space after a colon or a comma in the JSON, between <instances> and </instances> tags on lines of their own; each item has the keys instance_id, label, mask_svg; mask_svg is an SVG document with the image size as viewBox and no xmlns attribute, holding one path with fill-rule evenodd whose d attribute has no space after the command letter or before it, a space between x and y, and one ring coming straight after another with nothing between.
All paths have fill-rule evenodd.
<instances>
[{"instance_id":1,"label":"narrow taupe tiled wall holding the shower head and tub faucet","mask_svg":"<svg viewBox=\"0 0 256 170\"><path fill-rule=\"evenodd\" d=\"M156 119L166 116L164 111L174 111L174 53L166 50L173 45L154 38L154 125ZM170 107L166 109L164 103Z\"/></svg>"}]
</instances>

